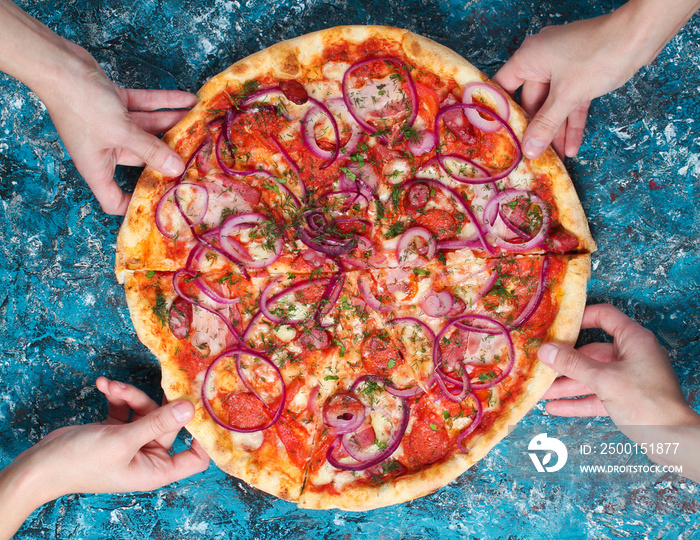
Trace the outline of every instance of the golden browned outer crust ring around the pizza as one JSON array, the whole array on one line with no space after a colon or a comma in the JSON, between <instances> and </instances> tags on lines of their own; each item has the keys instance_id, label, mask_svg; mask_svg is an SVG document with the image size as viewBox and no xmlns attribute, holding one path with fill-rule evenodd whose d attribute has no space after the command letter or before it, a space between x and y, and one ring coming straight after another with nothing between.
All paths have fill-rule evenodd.
<instances>
[{"instance_id":1,"label":"golden browned outer crust ring around the pizza","mask_svg":"<svg viewBox=\"0 0 700 540\"><path fill-rule=\"evenodd\" d=\"M244 58L210 79L198 92L199 102L183 120L168 132L164 140L183 156L189 155L204 136L198 127L209 114L214 100L226 88L240 88L246 81L271 75L278 79L295 78L305 65L317 62L324 49L338 42L362 43L371 38L389 39L401 44L407 58L418 66L426 66L441 78L453 78L458 85L488 79L468 61L450 49L406 30L382 26L342 26L314 32ZM510 99L510 98L509 98ZM527 126L527 115L510 100L514 113L510 123L519 137ZM191 136L190 133L199 133ZM553 179L552 192L559 220L563 227L579 238L578 251L596 249L583 209L563 164L549 149L540 159L531 162L535 174ZM253 456L240 441L233 441L229 432L214 424L200 399L201 377L198 383L180 371L175 362L179 343L162 326L152 311L152 302L144 294L144 274L134 270L172 271L182 261L165 257L163 237L155 227L157 201L168 189L169 179L146 168L139 179L117 240L116 273L125 284L127 302L139 339L158 358L163 369L163 388L168 399L188 399L196 406L195 418L188 429L217 465L229 474L283 499L299 501L305 508L343 508L369 510L411 500L431 493L457 478L482 459L540 399L554 380L555 372L541 363L533 366L515 406L505 409L492 428L473 441L468 454L454 454L443 462L421 471L399 477L391 482L371 487L349 486L340 495L302 492L304 481L290 473L288 464L276 463L278 457ZM561 292L559 312L549 332L549 339L572 344L578 335L585 306L586 282L590 274L588 255L570 257L567 273L558 285ZM270 456L267 456L268 458Z\"/></svg>"}]
</instances>

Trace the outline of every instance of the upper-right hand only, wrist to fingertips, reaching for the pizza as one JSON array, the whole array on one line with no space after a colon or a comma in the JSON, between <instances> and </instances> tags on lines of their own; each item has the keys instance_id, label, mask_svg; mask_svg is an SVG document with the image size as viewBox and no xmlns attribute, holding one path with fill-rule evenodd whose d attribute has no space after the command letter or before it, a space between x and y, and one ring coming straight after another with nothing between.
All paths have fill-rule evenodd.
<instances>
[{"instance_id":1,"label":"upper-right hand only, wrist to fingertips, reaching for the pizza","mask_svg":"<svg viewBox=\"0 0 700 540\"><path fill-rule=\"evenodd\" d=\"M523 136L525 157L553 143L563 157L581 146L593 98L615 90L646 63L613 15L549 26L530 36L494 76L520 101L532 122Z\"/></svg>"}]
</instances>

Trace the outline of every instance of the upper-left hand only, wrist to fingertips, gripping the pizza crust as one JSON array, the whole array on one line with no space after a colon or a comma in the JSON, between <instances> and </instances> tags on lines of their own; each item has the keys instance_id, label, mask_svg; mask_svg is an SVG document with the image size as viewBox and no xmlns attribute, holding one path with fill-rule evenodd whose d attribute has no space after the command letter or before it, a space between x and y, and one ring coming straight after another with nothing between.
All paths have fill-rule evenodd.
<instances>
[{"instance_id":1,"label":"upper-left hand only, wrist to fingertips, gripping the pizza crust","mask_svg":"<svg viewBox=\"0 0 700 540\"><path fill-rule=\"evenodd\" d=\"M180 156L155 137L175 125L196 96L176 90L135 90L115 86L84 49L66 42L75 58L75 74L65 83L39 88L75 167L102 209L124 215L131 198L114 181L116 165L150 165L168 176L184 170Z\"/></svg>"}]
</instances>

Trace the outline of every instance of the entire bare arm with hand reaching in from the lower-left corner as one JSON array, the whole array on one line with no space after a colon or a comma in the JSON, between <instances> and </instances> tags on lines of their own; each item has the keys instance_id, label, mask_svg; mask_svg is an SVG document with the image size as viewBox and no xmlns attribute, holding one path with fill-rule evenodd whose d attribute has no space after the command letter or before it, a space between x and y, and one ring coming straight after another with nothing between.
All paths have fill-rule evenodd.
<instances>
[{"instance_id":1,"label":"entire bare arm with hand reaching in from the lower-left corner","mask_svg":"<svg viewBox=\"0 0 700 540\"><path fill-rule=\"evenodd\" d=\"M57 429L0 471L0 540L10 538L34 509L68 493L149 491L209 465L196 441L169 454L192 419L191 403L158 407L137 388L104 377L97 387L109 402L102 423Z\"/></svg>"}]
</instances>

